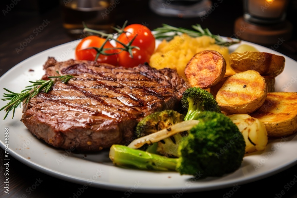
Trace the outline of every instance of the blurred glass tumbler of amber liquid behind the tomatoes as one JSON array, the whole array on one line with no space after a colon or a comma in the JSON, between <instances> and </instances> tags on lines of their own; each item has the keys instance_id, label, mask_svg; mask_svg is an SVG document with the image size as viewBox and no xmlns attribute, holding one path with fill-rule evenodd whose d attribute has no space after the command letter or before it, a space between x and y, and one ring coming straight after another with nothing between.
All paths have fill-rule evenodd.
<instances>
[{"instance_id":1,"label":"blurred glass tumbler of amber liquid behind the tomatoes","mask_svg":"<svg viewBox=\"0 0 297 198\"><path fill-rule=\"evenodd\" d=\"M114 0L61 0L63 26L71 35L79 37L83 22L88 28L110 33L114 26Z\"/></svg>"}]
</instances>

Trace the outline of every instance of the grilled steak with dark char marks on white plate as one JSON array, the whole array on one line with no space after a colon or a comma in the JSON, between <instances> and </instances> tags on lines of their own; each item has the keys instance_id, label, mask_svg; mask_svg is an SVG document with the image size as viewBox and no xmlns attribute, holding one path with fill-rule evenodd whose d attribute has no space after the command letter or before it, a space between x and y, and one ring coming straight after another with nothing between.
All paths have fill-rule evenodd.
<instances>
[{"instance_id":1,"label":"grilled steak with dark char marks on white plate","mask_svg":"<svg viewBox=\"0 0 297 198\"><path fill-rule=\"evenodd\" d=\"M22 122L38 138L63 149L100 151L129 144L137 123L150 113L175 109L189 85L173 69L134 68L48 58L45 75L73 75L31 98Z\"/></svg>"}]
</instances>

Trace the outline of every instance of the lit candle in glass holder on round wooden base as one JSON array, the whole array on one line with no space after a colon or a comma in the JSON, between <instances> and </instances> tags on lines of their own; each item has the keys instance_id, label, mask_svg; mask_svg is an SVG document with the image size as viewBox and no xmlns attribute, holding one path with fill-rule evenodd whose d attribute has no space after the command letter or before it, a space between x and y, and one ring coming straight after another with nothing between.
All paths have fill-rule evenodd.
<instances>
[{"instance_id":1,"label":"lit candle in glass holder on round wooden base","mask_svg":"<svg viewBox=\"0 0 297 198\"><path fill-rule=\"evenodd\" d=\"M242 40L274 44L292 37L292 24L286 20L289 0L244 0L243 16L235 22L234 32Z\"/></svg>"}]
</instances>

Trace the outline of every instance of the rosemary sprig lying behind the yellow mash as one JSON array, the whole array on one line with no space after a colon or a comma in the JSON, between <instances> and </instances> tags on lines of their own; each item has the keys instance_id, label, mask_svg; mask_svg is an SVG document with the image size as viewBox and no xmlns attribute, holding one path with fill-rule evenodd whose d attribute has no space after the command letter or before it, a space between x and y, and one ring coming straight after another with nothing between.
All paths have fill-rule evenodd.
<instances>
[{"instance_id":1,"label":"rosemary sprig lying behind the yellow mash","mask_svg":"<svg viewBox=\"0 0 297 198\"><path fill-rule=\"evenodd\" d=\"M226 41L221 36L212 34L208 28L203 29L200 24L192 25L192 28L194 30L162 24L162 27L154 29L154 36L156 39L172 39L174 36L181 34L188 34L190 37L201 37L205 35L214 38L217 45L227 47L240 42L239 39Z\"/></svg>"}]
</instances>

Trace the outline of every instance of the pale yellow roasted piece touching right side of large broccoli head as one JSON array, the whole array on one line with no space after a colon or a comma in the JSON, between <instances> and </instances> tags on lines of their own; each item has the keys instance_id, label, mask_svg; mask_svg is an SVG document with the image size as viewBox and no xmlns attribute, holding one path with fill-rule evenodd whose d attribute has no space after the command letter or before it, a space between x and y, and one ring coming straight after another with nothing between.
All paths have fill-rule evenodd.
<instances>
[{"instance_id":1,"label":"pale yellow roasted piece touching right side of large broccoli head","mask_svg":"<svg viewBox=\"0 0 297 198\"><path fill-rule=\"evenodd\" d=\"M228 115L242 133L246 147L246 153L263 151L268 143L268 134L265 125L248 114Z\"/></svg>"}]
</instances>

